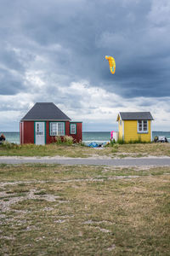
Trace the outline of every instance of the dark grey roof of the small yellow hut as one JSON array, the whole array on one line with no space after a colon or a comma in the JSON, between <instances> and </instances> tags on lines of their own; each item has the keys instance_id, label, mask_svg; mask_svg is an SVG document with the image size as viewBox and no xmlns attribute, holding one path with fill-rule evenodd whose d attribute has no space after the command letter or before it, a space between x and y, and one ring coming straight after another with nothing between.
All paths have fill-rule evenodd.
<instances>
[{"instance_id":1,"label":"dark grey roof of the small yellow hut","mask_svg":"<svg viewBox=\"0 0 170 256\"><path fill-rule=\"evenodd\" d=\"M120 112L122 120L153 120L150 112Z\"/></svg>"}]
</instances>

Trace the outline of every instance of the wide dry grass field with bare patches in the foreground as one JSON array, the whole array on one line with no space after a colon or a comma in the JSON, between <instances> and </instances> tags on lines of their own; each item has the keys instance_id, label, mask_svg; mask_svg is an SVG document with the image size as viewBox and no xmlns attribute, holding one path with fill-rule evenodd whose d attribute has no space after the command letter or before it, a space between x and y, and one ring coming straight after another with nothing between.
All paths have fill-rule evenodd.
<instances>
[{"instance_id":1,"label":"wide dry grass field with bare patches in the foreground","mask_svg":"<svg viewBox=\"0 0 170 256\"><path fill-rule=\"evenodd\" d=\"M170 167L1 165L0 255L169 255Z\"/></svg>"}]
</instances>

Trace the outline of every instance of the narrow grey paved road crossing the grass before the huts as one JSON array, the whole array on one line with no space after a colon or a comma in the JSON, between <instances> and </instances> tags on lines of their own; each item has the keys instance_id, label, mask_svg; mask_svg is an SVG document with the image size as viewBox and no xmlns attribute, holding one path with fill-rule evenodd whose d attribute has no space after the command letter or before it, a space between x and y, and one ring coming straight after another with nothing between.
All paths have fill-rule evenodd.
<instances>
[{"instance_id":1,"label":"narrow grey paved road crossing the grass before the huts","mask_svg":"<svg viewBox=\"0 0 170 256\"><path fill-rule=\"evenodd\" d=\"M86 166L170 166L170 158L133 158L133 159L64 159L64 158L40 158L40 159L14 159L0 158L0 164L59 164L59 165L86 165Z\"/></svg>"}]
</instances>

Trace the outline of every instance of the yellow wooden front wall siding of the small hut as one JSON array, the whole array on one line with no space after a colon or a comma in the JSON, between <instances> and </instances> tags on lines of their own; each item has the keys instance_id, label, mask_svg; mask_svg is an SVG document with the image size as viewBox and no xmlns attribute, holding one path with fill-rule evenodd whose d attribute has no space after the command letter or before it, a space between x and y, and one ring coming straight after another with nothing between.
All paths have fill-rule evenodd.
<instances>
[{"instance_id":1,"label":"yellow wooden front wall siding of the small hut","mask_svg":"<svg viewBox=\"0 0 170 256\"><path fill-rule=\"evenodd\" d=\"M138 133L137 120L124 120L124 140L125 142L138 140L139 137L144 142L150 142L150 120L148 120L148 133Z\"/></svg>"}]
</instances>

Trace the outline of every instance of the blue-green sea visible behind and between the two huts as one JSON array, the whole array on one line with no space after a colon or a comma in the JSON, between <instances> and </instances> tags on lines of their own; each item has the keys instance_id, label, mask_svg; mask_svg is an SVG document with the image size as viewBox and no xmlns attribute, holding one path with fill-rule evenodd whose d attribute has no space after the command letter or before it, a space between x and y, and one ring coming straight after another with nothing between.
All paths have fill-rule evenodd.
<instances>
[{"instance_id":1,"label":"blue-green sea visible behind and between the two huts","mask_svg":"<svg viewBox=\"0 0 170 256\"><path fill-rule=\"evenodd\" d=\"M20 144L20 132L9 132L1 131L6 137L6 140L9 143ZM170 143L170 131L152 131L152 137L164 136L167 137L168 142ZM110 131L84 131L82 132L82 142L88 145L89 143L107 143L110 141L111 132Z\"/></svg>"}]
</instances>

